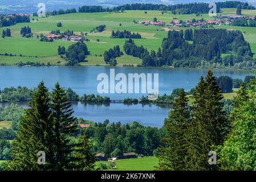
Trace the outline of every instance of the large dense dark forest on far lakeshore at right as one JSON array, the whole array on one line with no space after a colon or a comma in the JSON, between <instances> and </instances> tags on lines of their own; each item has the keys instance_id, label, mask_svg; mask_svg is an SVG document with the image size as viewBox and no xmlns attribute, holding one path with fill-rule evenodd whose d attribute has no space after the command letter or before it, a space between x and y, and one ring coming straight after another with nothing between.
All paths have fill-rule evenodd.
<instances>
[{"instance_id":1,"label":"large dense dark forest on far lakeshore at right","mask_svg":"<svg viewBox=\"0 0 256 182\"><path fill-rule=\"evenodd\" d=\"M193 40L193 44L186 41ZM158 52L147 51L143 46L137 47L133 40L127 40L124 45L127 55L143 59L142 65L174 67L198 67L204 61L233 67L236 63L253 61L250 44L247 43L241 31L228 32L225 29L201 29L169 31L168 37L162 40ZM221 57L221 53L231 53Z\"/></svg>"}]
</instances>

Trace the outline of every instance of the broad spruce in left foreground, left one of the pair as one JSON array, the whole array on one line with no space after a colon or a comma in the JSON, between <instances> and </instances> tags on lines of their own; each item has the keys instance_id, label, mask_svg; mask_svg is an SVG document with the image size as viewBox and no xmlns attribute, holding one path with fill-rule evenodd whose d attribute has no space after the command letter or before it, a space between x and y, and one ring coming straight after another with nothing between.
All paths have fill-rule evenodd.
<instances>
[{"instance_id":1,"label":"broad spruce in left foreground, left one of the pair","mask_svg":"<svg viewBox=\"0 0 256 182\"><path fill-rule=\"evenodd\" d=\"M43 82L38 85L30 108L21 118L20 127L12 148L12 158L7 166L16 171L41 171L50 169L52 163L50 97ZM44 151L46 164L39 165L37 154Z\"/></svg>"}]
</instances>

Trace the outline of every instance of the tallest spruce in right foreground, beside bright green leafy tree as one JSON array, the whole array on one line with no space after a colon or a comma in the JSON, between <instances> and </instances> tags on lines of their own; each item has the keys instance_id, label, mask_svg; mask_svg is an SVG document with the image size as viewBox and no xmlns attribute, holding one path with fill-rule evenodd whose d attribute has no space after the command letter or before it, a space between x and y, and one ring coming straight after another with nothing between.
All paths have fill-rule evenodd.
<instances>
[{"instance_id":1,"label":"tallest spruce in right foreground, beside bright green leafy tree","mask_svg":"<svg viewBox=\"0 0 256 182\"><path fill-rule=\"evenodd\" d=\"M208 71L206 80L201 77L193 95L192 125L189 127L189 169L216 169L208 163L209 152L221 144L229 124L221 102L223 96L213 72Z\"/></svg>"}]
</instances>

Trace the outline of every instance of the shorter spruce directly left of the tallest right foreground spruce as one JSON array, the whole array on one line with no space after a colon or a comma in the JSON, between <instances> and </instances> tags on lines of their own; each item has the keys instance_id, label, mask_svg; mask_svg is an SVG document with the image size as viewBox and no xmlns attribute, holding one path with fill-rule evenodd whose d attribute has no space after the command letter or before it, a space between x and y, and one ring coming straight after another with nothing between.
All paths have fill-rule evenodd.
<instances>
[{"instance_id":1,"label":"shorter spruce directly left of the tallest right foreground spruce","mask_svg":"<svg viewBox=\"0 0 256 182\"><path fill-rule=\"evenodd\" d=\"M169 118L165 119L167 135L162 138L165 147L159 148L159 170L186 170L188 160L187 134L190 125L188 98L184 89L173 104Z\"/></svg>"}]
</instances>

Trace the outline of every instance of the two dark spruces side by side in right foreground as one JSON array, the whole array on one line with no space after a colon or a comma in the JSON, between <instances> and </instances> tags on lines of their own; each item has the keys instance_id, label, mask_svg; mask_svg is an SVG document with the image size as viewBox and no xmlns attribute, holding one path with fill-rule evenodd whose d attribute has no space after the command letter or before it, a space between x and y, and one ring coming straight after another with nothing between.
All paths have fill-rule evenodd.
<instances>
[{"instance_id":1,"label":"two dark spruces side by side in right foreground","mask_svg":"<svg viewBox=\"0 0 256 182\"><path fill-rule=\"evenodd\" d=\"M213 170L209 152L224 142L229 120L221 102L223 96L212 71L201 77L193 94L193 104L182 90L165 120L167 134L159 148L160 170Z\"/></svg>"}]
</instances>

